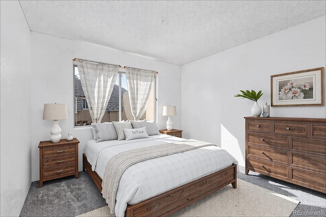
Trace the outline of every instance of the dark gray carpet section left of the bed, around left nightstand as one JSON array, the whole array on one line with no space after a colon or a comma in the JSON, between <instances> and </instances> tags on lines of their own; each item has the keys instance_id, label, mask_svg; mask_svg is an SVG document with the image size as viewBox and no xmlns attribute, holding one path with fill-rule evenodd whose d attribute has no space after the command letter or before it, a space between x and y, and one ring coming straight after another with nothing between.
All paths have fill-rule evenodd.
<instances>
[{"instance_id":1,"label":"dark gray carpet section left of the bed, around left nightstand","mask_svg":"<svg viewBox=\"0 0 326 217\"><path fill-rule=\"evenodd\" d=\"M105 206L98 188L89 174L43 182L32 182L19 216L76 216Z\"/></svg>"}]
</instances>

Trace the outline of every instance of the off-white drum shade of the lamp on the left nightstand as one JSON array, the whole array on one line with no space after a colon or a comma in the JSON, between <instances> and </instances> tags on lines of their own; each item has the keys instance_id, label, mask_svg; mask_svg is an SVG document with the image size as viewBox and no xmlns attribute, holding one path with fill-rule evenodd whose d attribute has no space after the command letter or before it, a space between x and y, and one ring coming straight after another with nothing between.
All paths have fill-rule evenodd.
<instances>
[{"instance_id":1,"label":"off-white drum shade of the lamp on the left nightstand","mask_svg":"<svg viewBox=\"0 0 326 217\"><path fill-rule=\"evenodd\" d=\"M62 120L68 119L66 104L44 104L43 120Z\"/></svg>"}]
</instances>

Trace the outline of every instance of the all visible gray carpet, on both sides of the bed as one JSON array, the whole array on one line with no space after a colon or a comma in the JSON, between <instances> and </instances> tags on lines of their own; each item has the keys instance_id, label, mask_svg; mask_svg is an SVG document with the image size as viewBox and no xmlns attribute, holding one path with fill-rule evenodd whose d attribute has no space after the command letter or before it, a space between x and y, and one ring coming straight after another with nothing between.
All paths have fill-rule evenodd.
<instances>
[{"instance_id":1,"label":"all visible gray carpet, on both sides of the bed","mask_svg":"<svg viewBox=\"0 0 326 217\"><path fill-rule=\"evenodd\" d=\"M240 167L238 178L300 201L291 216L326 215L326 195L323 193L252 171L247 176L243 167ZM70 176L46 181L42 188L38 181L32 182L20 216L76 216L105 205L88 173L79 172L79 179Z\"/></svg>"}]
</instances>

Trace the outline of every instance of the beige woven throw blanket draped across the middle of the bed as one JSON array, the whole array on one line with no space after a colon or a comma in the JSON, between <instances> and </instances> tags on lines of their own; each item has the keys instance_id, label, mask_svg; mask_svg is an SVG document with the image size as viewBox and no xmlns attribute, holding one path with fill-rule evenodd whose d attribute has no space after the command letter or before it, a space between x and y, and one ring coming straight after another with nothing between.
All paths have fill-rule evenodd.
<instances>
[{"instance_id":1,"label":"beige woven throw blanket draped across the middle of the bed","mask_svg":"<svg viewBox=\"0 0 326 217\"><path fill-rule=\"evenodd\" d=\"M132 149L113 156L106 164L102 181L102 196L105 198L111 213L114 214L116 193L120 178L128 167L144 160L212 145L213 144L211 143L198 140L185 140L181 142Z\"/></svg>"}]
</instances>

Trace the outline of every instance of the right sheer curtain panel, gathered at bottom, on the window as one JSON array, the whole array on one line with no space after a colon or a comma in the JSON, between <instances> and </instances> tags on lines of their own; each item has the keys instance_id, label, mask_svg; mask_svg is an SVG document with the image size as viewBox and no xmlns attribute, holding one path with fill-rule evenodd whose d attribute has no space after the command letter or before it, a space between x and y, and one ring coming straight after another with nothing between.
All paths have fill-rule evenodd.
<instances>
[{"instance_id":1,"label":"right sheer curtain panel, gathered at bottom, on the window","mask_svg":"<svg viewBox=\"0 0 326 217\"><path fill-rule=\"evenodd\" d=\"M126 68L129 101L134 120L139 120L146 112L155 73L155 71Z\"/></svg>"}]
</instances>

